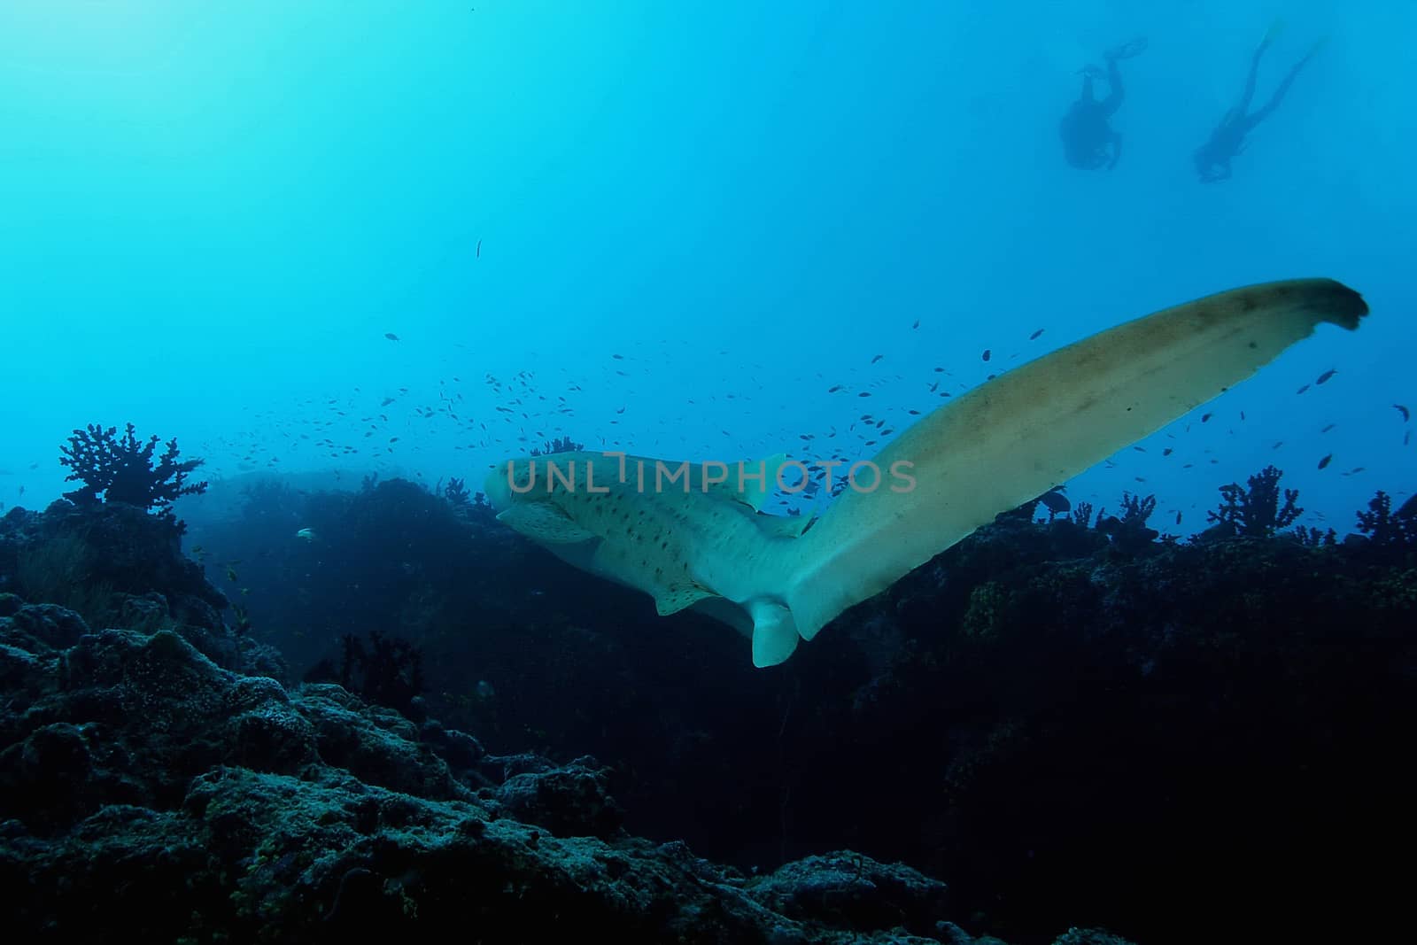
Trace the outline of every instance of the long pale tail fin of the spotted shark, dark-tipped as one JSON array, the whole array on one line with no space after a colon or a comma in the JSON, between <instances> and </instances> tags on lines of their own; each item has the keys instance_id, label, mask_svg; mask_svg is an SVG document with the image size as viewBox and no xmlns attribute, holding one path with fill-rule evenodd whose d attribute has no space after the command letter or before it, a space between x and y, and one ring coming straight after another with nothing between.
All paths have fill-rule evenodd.
<instances>
[{"instance_id":1,"label":"long pale tail fin of the spotted shark, dark-tipped","mask_svg":"<svg viewBox=\"0 0 1417 945\"><path fill-rule=\"evenodd\" d=\"M805 639L1013 509L1254 374L1367 305L1332 279L1233 289L1094 334L938 408L794 543L785 599ZM914 479L913 487L904 489Z\"/></svg>"}]
</instances>

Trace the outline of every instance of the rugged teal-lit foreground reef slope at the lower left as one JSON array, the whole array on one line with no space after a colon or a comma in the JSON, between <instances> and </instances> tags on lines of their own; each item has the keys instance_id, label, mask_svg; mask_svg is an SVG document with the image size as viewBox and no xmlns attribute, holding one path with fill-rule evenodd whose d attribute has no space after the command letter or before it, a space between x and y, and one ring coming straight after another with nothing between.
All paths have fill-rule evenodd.
<instances>
[{"instance_id":1,"label":"rugged teal-lit foreground reef slope at the lower left","mask_svg":"<svg viewBox=\"0 0 1417 945\"><path fill-rule=\"evenodd\" d=\"M0 881L24 941L927 942L945 887L854 853L761 877L619 827L604 769L496 757L171 630L0 599Z\"/></svg>"}]
</instances>

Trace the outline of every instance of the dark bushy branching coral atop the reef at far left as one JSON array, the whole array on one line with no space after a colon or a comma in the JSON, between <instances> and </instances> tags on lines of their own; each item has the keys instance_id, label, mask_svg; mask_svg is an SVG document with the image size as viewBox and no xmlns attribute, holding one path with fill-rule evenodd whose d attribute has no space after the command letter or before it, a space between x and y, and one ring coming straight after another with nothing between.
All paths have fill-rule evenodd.
<instances>
[{"instance_id":1,"label":"dark bushy branching coral atop the reef at far left","mask_svg":"<svg viewBox=\"0 0 1417 945\"><path fill-rule=\"evenodd\" d=\"M167 449L153 465L153 453L157 449L157 436L153 435L146 443L139 442L133 432L133 425L122 436L118 428L103 429L98 424L89 424L86 429L75 429L67 446L60 446L64 453L60 458L61 466L68 466L74 472L64 477L65 482L82 482L81 489L64 493L64 497L77 504L95 504L98 502L123 502L139 509L157 510L160 514L171 511L171 503L179 496L190 496L207 490L207 483L198 482L187 485L187 476L201 465L200 459L177 459L177 441L167 441Z\"/></svg>"}]
</instances>

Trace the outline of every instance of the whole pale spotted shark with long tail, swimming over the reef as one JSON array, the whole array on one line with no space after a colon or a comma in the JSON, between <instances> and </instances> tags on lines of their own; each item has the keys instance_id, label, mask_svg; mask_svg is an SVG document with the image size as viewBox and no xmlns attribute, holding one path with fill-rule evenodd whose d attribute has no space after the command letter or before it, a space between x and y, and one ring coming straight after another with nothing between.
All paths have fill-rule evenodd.
<instances>
[{"instance_id":1,"label":"whole pale spotted shark with long tail, swimming over the reef","mask_svg":"<svg viewBox=\"0 0 1417 945\"><path fill-rule=\"evenodd\" d=\"M785 662L860 604L989 523L1180 419L1367 303L1333 279L1209 295L1107 329L925 414L818 516L764 511L805 469L563 452L500 462L497 519L564 561L693 609ZM796 466L803 466L798 462Z\"/></svg>"}]
</instances>

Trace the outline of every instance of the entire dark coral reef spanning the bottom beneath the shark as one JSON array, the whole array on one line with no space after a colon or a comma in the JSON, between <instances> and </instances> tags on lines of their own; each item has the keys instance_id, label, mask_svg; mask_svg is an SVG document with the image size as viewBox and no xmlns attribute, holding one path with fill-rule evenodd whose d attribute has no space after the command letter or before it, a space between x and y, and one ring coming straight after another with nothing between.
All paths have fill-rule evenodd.
<instances>
[{"instance_id":1,"label":"entire dark coral reef spanning the bottom beneath the shark","mask_svg":"<svg viewBox=\"0 0 1417 945\"><path fill-rule=\"evenodd\" d=\"M1278 528L1295 503L1270 485ZM1342 543L1141 540L1153 506L1134 496L1101 528L1077 509L1000 516L781 672L752 669L720 625L659 618L485 507L414 483L278 504L191 520L190 537L259 588L244 638L188 626L171 602L193 594L191 572L159 531L133 533L152 561L92 625L108 629L37 606L43 594L0 596L0 676L18 693L0 713L0 751L14 751L0 861L7 878L38 877L27 934L45 910L86 914L45 885L65 871L126 915L92 893L122 856L152 864L135 901L164 905L135 928L171 922L159 938L289 924L320 939L346 921L441 919L469 898L489 939L536 938L557 910L628 941L968 942L964 927L1032 945L1087 924L1166 945L1403 921L1401 877L1383 864L1417 840L1394 748L1417 715L1417 567L1393 540L1411 503L1374 497L1367 537ZM1251 504L1258 524L1270 513ZM65 530L88 534L88 517L94 557L122 557L133 523L102 526L122 514L152 520L69 503L0 519L0 589L37 553L71 560ZM1128 519L1136 541L1118 540ZM320 541L295 540L293 523ZM376 686L397 706L374 706L295 684L266 646L295 679L329 657L339 680L341 639L371 655L376 630L422 653L421 694ZM408 657L385 649L373 677L410 681ZM115 706L152 707L160 725ZM51 724L79 730L84 751ZM485 833L459 839L472 820ZM207 867L183 860L193 849ZM187 891L169 885L164 850ZM452 891L459 871L470 878ZM200 925L173 931L193 914Z\"/></svg>"}]
</instances>

